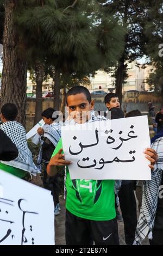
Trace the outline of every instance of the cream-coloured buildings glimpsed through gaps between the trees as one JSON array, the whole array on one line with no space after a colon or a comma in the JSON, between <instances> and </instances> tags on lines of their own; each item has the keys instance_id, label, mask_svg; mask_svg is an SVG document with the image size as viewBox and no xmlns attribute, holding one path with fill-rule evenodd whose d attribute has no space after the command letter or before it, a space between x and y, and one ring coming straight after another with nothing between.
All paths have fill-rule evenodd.
<instances>
[{"instance_id":1,"label":"cream-coloured buildings glimpsed through gaps between the trees","mask_svg":"<svg viewBox=\"0 0 163 256\"><path fill-rule=\"evenodd\" d=\"M149 77L152 66L147 66L143 69L141 65L137 65L136 61L128 63L128 78L123 84L122 93L128 91L145 92L149 90L149 86L146 79ZM90 93L96 96L103 96L106 93L115 92L115 78L113 77L114 70L109 74L103 70L98 70L95 77L91 77L90 85L85 85L90 90ZM48 82L42 84L42 96L46 96L48 93L53 92L53 81L49 78ZM27 74L27 96L35 97L36 84L32 83Z\"/></svg>"}]
</instances>

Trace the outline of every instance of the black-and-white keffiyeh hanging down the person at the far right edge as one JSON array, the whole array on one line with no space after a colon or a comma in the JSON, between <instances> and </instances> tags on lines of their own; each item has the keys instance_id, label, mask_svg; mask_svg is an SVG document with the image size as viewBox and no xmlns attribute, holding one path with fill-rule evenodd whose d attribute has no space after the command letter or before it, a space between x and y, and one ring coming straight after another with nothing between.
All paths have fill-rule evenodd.
<instances>
[{"instance_id":1,"label":"black-and-white keffiyeh hanging down the person at the far right edge","mask_svg":"<svg viewBox=\"0 0 163 256\"><path fill-rule=\"evenodd\" d=\"M143 185L142 205L133 245L141 245L147 235L148 239L152 239L163 170L163 137L156 139L152 148L158 154L158 162L152 171L151 180L145 181Z\"/></svg>"}]
</instances>

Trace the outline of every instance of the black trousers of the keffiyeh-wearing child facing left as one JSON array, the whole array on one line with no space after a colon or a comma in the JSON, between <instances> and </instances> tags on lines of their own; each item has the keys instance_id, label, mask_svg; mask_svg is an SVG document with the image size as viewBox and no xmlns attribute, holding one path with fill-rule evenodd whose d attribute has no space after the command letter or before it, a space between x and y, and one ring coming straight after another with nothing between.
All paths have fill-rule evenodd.
<instances>
[{"instance_id":1,"label":"black trousers of the keffiyeh-wearing child facing left","mask_svg":"<svg viewBox=\"0 0 163 256\"><path fill-rule=\"evenodd\" d=\"M43 187L52 191L54 206L56 206L59 203L60 175L57 173L55 176L51 177L47 174L46 168L47 164L44 164Z\"/></svg>"}]
</instances>

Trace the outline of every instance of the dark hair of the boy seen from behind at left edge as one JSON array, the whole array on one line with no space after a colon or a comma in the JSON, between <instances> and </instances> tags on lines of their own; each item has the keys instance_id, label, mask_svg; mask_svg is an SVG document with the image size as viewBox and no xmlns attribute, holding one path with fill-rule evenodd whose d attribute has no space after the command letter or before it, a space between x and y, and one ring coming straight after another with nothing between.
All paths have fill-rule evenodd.
<instances>
[{"instance_id":1,"label":"dark hair of the boy seen from behind at left edge","mask_svg":"<svg viewBox=\"0 0 163 256\"><path fill-rule=\"evenodd\" d=\"M8 121L14 121L17 117L17 107L13 103L5 103L1 108L1 113L3 117Z\"/></svg>"}]
</instances>

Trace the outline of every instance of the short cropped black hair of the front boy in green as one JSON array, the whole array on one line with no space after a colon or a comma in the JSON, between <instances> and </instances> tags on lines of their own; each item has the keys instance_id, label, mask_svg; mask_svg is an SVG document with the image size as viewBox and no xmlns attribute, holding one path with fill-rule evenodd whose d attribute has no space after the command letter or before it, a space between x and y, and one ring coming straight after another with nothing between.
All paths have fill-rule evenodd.
<instances>
[{"instance_id":1,"label":"short cropped black hair of the front boy in green","mask_svg":"<svg viewBox=\"0 0 163 256\"><path fill-rule=\"evenodd\" d=\"M76 94L79 94L79 93L85 94L87 101L89 103L91 103L91 100L92 100L91 99L91 94L90 94L89 90L84 86L74 86L70 90L68 90L68 93L66 95L66 103L67 103L68 96L76 95Z\"/></svg>"}]
</instances>

